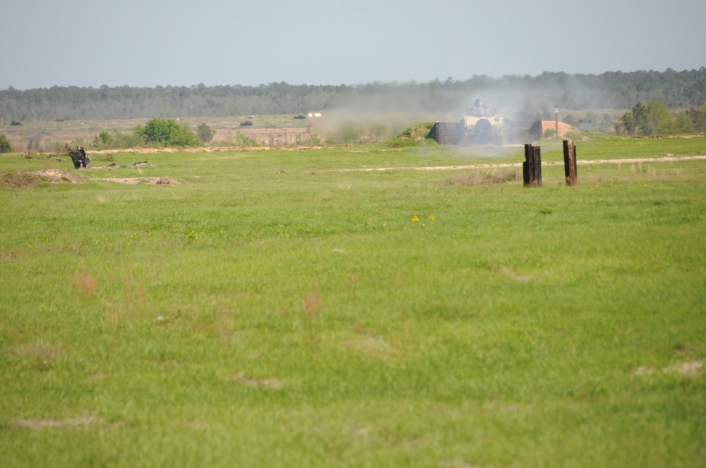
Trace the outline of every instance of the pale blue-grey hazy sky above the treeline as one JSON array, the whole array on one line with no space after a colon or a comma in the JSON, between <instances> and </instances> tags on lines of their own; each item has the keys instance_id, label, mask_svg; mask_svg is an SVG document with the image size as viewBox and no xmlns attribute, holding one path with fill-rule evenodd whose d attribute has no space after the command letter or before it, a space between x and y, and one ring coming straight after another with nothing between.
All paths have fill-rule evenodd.
<instances>
[{"instance_id":1,"label":"pale blue-grey hazy sky above the treeline","mask_svg":"<svg viewBox=\"0 0 706 468\"><path fill-rule=\"evenodd\" d=\"M706 66L704 0L1 0L0 90Z\"/></svg>"}]
</instances>

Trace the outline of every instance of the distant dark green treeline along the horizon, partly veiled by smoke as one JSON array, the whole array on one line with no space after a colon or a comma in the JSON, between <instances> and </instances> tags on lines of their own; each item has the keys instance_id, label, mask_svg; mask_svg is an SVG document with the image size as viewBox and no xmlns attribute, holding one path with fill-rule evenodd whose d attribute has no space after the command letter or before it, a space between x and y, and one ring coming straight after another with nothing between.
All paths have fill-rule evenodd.
<instances>
[{"instance_id":1,"label":"distant dark green treeline along the horizon, partly veiled by smoke","mask_svg":"<svg viewBox=\"0 0 706 468\"><path fill-rule=\"evenodd\" d=\"M512 110L515 118L551 116L562 109L631 109L657 100L669 109L706 103L706 67L698 70L608 72L600 75L474 75L469 80L373 82L366 85L268 85L191 87L59 87L0 91L0 118L109 120L287 114L358 107L369 111L454 113L473 99Z\"/></svg>"}]
</instances>

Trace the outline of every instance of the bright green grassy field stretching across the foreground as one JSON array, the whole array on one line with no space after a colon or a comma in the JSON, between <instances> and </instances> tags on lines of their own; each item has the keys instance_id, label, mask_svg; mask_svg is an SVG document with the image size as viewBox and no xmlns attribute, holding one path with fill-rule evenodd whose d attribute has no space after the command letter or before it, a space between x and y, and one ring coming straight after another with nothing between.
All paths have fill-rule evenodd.
<instances>
[{"instance_id":1,"label":"bright green grassy field stretching across the foreground","mask_svg":"<svg viewBox=\"0 0 706 468\"><path fill-rule=\"evenodd\" d=\"M705 466L706 161L346 171L520 151L116 153L0 187L0 466Z\"/></svg>"}]
</instances>

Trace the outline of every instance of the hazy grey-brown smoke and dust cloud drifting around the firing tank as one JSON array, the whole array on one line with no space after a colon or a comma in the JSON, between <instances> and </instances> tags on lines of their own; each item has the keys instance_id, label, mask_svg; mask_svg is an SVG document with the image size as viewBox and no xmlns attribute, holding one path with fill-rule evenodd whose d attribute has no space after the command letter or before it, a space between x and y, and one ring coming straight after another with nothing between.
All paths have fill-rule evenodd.
<instances>
[{"instance_id":1,"label":"hazy grey-brown smoke and dust cloud drifting around the firing tank","mask_svg":"<svg viewBox=\"0 0 706 468\"><path fill-rule=\"evenodd\" d=\"M512 120L576 118L590 110L612 109L611 96L585 84L580 76L543 73L537 77L475 76L464 82L373 83L356 87L310 118L316 133L331 142L381 142L411 125L455 122L479 99L493 113ZM599 111L602 112L602 111Z\"/></svg>"}]
</instances>

